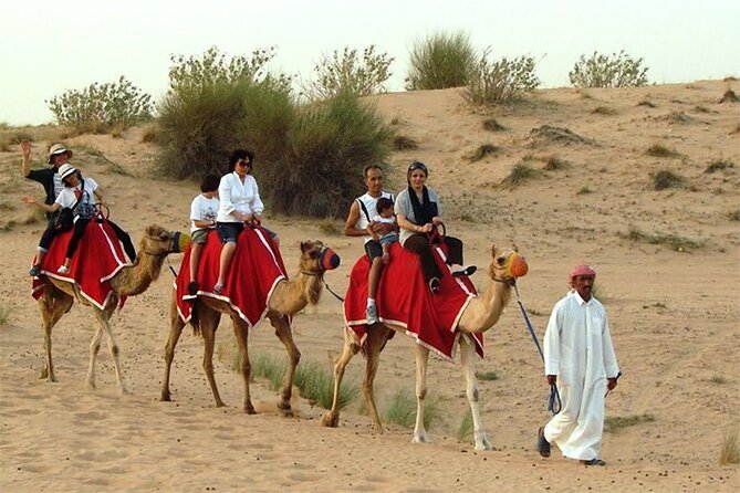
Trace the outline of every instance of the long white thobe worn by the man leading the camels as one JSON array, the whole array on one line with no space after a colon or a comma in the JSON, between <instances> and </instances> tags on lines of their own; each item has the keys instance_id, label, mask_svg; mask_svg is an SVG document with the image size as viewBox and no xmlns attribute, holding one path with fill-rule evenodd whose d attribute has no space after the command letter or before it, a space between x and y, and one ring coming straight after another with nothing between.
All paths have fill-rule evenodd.
<instances>
[{"instance_id":1,"label":"long white thobe worn by the man leading the camels","mask_svg":"<svg viewBox=\"0 0 740 493\"><path fill-rule=\"evenodd\" d=\"M579 293L559 301L544 333L545 375L557 376L563 403L544 428L544 438L570 459L598 457L604 430L606 377L619 371L606 311Z\"/></svg>"}]
</instances>

